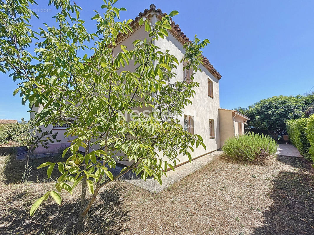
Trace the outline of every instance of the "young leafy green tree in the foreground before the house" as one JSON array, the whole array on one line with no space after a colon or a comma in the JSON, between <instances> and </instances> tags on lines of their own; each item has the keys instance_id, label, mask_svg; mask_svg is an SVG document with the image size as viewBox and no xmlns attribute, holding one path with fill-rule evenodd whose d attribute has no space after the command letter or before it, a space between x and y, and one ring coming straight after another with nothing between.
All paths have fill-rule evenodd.
<instances>
[{"instance_id":1,"label":"young leafy green tree in the foreground before the house","mask_svg":"<svg viewBox=\"0 0 314 235\"><path fill-rule=\"evenodd\" d=\"M0 3L0 70L11 70L14 81L21 80L14 95L20 93L22 102L29 101L30 107L43 107L35 115L37 125L67 123L70 127L65 134L75 136L62 154L70 151L68 159L38 167L48 167L48 177L55 167L62 175L56 190L36 201L30 214L49 196L61 204L59 192L72 193L81 182L78 230L84 228L86 214L104 185L130 170L144 180L153 176L161 184L167 169L174 170L179 154L191 160L194 146L206 148L202 137L184 131L178 119L182 108L192 103L193 88L199 84L193 81L193 74L191 82L171 83L178 58L154 45L154 40L168 36L171 17L178 12L172 11L155 25L141 18L139 24L145 25L149 38L135 40L134 48L128 49L124 45L117 47L116 39L132 32L132 20L115 21L126 10L114 7L115 2L104 0L101 8L105 13L96 12L92 18L97 21L97 31L88 33L79 18L79 6L71 5L69 0L51 0L49 4L59 11L54 16L58 27L45 24L40 29L40 40L28 24L35 15L29 9L34 1ZM36 55L27 50L32 40L37 40ZM87 46L90 41L95 47ZM195 37L184 46L186 53L179 59L187 62L186 69L200 70L200 50L208 43L208 39ZM84 50L91 51L91 55L83 55ZM129 69L129 63L136 66L135 70ZM133 115L138 107L149 112ZM85 149L84 154L79 147ZM131 164L112 175L117 161ZM88 200L87 190L91 194Z\"/></svg>"}]
</instances>

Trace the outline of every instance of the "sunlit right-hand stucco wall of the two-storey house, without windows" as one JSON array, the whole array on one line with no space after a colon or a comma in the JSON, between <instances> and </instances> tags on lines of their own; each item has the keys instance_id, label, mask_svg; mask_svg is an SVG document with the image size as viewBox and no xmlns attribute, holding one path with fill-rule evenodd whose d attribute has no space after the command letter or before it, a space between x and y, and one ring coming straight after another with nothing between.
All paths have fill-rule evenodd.
<instances>
[{"instance_id":1,"label":"sunlit right-hand stucco wall of the two-storey house, without windows","mask_svg":"<svg viewBox=\"0 0 314 235\"><path fill-rule=\"evenodd\" d=\"M183 45L174 38L170 33L165 39L158 39L155 41L155 45L160 47L160 50L165 52L165 50L170 50L169 53L175 55L180 61L184 55ZM194 81L198 82L199 87L195 88L196 94L191 98L192 105L187 105L183 110L184 115L193 116L194 120L194 134L199 134L202 136L204 144L206 145L206 150L200 146L198 149L194 149L194 153L190 151L192 158L196 158L200 155L206 154L208 152L217 150L220 148L220 134L219 134L219 80L216 79L208 70L200 66L202 72L198 71L194 75ZM183 64L180 63L178 68L174 70L177 74L175 79L171 80L174 83L176 80L183 80ZM213 81L213 91L214 98L208 97L208 86L207 81L210 78ZM183 126L184 117L178 117ZM214 131L215 137L209 136L209 119L214 120ZM187 156L179 156L180 164L188 160ZM166 160L166 159L165 159Z\"/></svg>"}]
</instances>

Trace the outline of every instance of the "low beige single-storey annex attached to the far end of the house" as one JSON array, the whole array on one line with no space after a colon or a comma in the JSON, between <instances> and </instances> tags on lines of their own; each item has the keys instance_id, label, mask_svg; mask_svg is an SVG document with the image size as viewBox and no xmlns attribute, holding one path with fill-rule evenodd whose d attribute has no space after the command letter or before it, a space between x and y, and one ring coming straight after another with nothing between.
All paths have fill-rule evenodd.
<instances>
[{"instance_id":1,"label":"low beige single-storey annex attached to the far end of the house","mask_svg":"<svg viewBox=\"0 0 314 235\"><path fill-rule=\"evenodd\" d=\"M247 125L248 117L236 110L219 108L220 146L225 140L244 134L244 124Z\"/></svg>"}]
</instances>

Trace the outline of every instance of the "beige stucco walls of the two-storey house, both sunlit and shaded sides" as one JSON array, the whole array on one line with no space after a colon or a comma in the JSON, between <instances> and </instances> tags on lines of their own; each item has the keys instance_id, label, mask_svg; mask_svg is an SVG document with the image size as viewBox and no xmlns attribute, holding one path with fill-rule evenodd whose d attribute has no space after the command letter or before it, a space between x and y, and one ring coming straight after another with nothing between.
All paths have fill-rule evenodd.
<instances>
[{"instance_id":1,"label":"beige stucco walls of the two-storey house, both sunlit and shaded sides","mask_svg":"<svg viewBox=\"0 0 314 235\"><path fill-rule=\"evenodd\" d=\"M155 21L157 21L156 17L153 17L152 22L154 24ZM127 37L124 41L122 41L121 44L126 45L128 50L133 49L133 41L136 39L143 40L144 38L148 38L148 33L145 32L144 27L140 27L138 30L136 30L133 34ZM169 37L165 39L159 39L158 41L154 41L154 44L160 47L161 51L170 50L170 54L175 55L178 61L181 60L181 58L184 55L184 49L183 45L174 38L170 33ZM114 49L114 53L118 53L121 50L120 44L117 45L117 47ZM122 70L134 70L135 66L130 61L129 65L126 65L125 68L122 68ZM197 81L200 83L200 86L195 88L196 94L194 98L191 99L192 105L188 105L184 110L183 114L190 115L194 117L194 133L199 134L203 137L204 144L206 145L206 150L199 146L198 149L194 150L194 153L190 151L192 158L196 158L200 155L206 154L208 152L214 151L216 149L220 148L220 134L219 134L219 80L216 79L208 70L200 66L202 72L198 71L194 75L194 81ZM176 79L172 79L172 83L174 83L176 80L183 80L183 65L180 64L176 71L174 71L177 74ZM213 81L213 91L214 91L214 98L208 97L208 86L207 86L207 79L211 79ZM148 108L139 108L137 109L140 112L143 112L144 109ZM183 126L184 118L178 117L181 121L181 124ZM209 136L209 119L214 120L214 132L215 137ZM48 126L48 130L51 130L52 126ZM64 138L64 130L54 130L58 131L57 138L60 138L62 141L60 144L69 144L68 141L71 140L69 138ZM59 147L56 145L56 147ZM56 148L52 148L56 149ZM187 156L183 157L182 155L179 156L180 162L177 162L177 164L180 164L182 162L185 162L188 160Z\"/></svg>"}]
</instances>

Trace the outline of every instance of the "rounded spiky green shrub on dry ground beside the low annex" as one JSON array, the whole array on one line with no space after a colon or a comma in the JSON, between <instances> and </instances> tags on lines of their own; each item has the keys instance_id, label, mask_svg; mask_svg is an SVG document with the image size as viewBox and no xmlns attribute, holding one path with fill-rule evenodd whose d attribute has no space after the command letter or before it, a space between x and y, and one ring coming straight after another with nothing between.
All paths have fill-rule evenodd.
<instances>
[{"instance_id":1,"label":"rounded spiky green shrub on dry ground beside the low annex","mask_svg":"<svg viewBox=\"0 0 314 235\"><path fill-rule=\"evenodd\" d=\"M276 155L277 148L273 138L250 132L227 139L221 149L234 160L263 163Z\"/></svg>"}]
</instances>

